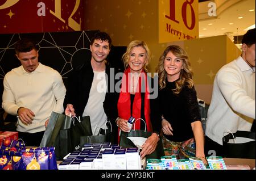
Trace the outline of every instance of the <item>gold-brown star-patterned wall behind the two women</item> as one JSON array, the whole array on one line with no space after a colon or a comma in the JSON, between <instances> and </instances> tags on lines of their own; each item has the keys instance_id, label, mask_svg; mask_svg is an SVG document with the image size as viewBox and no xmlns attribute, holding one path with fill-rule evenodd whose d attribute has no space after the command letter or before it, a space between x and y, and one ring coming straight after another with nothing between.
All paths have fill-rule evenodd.
<instances>
[{"instance_id":1,"label":"gold-brown star-patterned wall behind the two women","mask_svg":"<svg viewBox=\"0 0 256 181\"><path fill-rule=\"evenodd\" d=\"M117 46L127 46L135 39L146 41L152 52L150 72L155 72L160 54L168 45L180 45L187 50L197 96L207 103L210 103L217 71L241 54L226 35L159 44L158 1L85 1L84 8L85 30L106 31Z\"/></svg>"}]
</instances>

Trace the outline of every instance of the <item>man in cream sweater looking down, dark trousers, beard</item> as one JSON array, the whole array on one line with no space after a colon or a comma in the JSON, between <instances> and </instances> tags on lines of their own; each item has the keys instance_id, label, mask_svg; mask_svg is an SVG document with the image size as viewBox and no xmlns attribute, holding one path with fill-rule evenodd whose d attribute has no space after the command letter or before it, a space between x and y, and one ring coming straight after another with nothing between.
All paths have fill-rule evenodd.
<instances>
[{"instance_id":1,"label":"man in cream sweater looking down, dark trousers, beard","mask_svg":"<svg viewBox=\"0 0 256 181\"><path fill-rule=\"evenodd\" d=\"M27 146L39 146L51 112L64 112L66 89L56 70L38 62L33 41L19 40L15 53L22 65L5 75L2 108L18 117L19 138Z\"/></svg>"}]
</instances>

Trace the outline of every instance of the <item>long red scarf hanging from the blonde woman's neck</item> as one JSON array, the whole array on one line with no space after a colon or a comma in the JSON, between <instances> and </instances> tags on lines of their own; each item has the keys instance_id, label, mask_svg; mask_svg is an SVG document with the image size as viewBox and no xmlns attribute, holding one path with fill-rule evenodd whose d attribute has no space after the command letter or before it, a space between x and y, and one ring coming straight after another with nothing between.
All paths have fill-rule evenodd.
<instances>
[{"instance_id":1,"label":"long red scarf hanging from the blonde woman's neck","mask_svg":"<svg viewBox=\"0 0 256 181\"><path fill-rule=\"evenodd\" d=\"M130 68L127 68L123 73L122 84L121 84L121 92L119 94L119 99L117 103L118 116L122 119L128 120L131 117L131 95L130 95ZM143 81L142 81L143 79ZM144 87L146 87L146 92L144 96L144 116L147 126L147 131L150 132L151 121L150 121L150 100L149 100L149 91L148 91L148 82L147 82L147 74L142 70L141 75L139 76L139 81L137 85L137 90L134 96L133 102L133 111L132 116L137 120L141 118L141 85L146 83ZM143 123L142 123L143 124ZM135 124L135 129L141 129L141 121L137 121ZM118 128L118 142L119 142L119 128Z\"/></svg>"}]
</instances>

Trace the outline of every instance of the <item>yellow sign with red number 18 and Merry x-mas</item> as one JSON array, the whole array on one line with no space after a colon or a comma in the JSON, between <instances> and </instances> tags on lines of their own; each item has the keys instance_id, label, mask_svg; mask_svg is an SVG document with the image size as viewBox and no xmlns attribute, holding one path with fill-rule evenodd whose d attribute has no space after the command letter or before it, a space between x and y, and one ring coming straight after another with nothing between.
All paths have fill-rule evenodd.
<instances>
[{"instance_id":1,"label":"yellow sign with red number 18 and Merry x-mas","mask_svg":"<svg viewBox=\"0 0 256 181\"><path fill-rule=\"evenodd\" d=\"M158 0L159 43L199 36L198 0Z\"/></svg>"}]
</instances>

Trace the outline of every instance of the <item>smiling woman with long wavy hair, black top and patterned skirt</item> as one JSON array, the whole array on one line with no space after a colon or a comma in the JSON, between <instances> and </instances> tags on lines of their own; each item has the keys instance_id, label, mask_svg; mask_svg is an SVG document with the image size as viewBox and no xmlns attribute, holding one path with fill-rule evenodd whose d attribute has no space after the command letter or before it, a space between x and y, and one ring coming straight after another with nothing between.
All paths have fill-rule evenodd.
<instances>
[{"instance_id":1,"label":"smiling woman with long wavy hair, black top and patterned skirt","mask_svg":"<svg viewBox=\"0 0 256 181\"><path fill-rule=\"evenodd\" d=\"M188 55L170 45L159 59L159 102L166 155L178 159L204 155L204 134Z\"/></svg>"}]
</instances>

